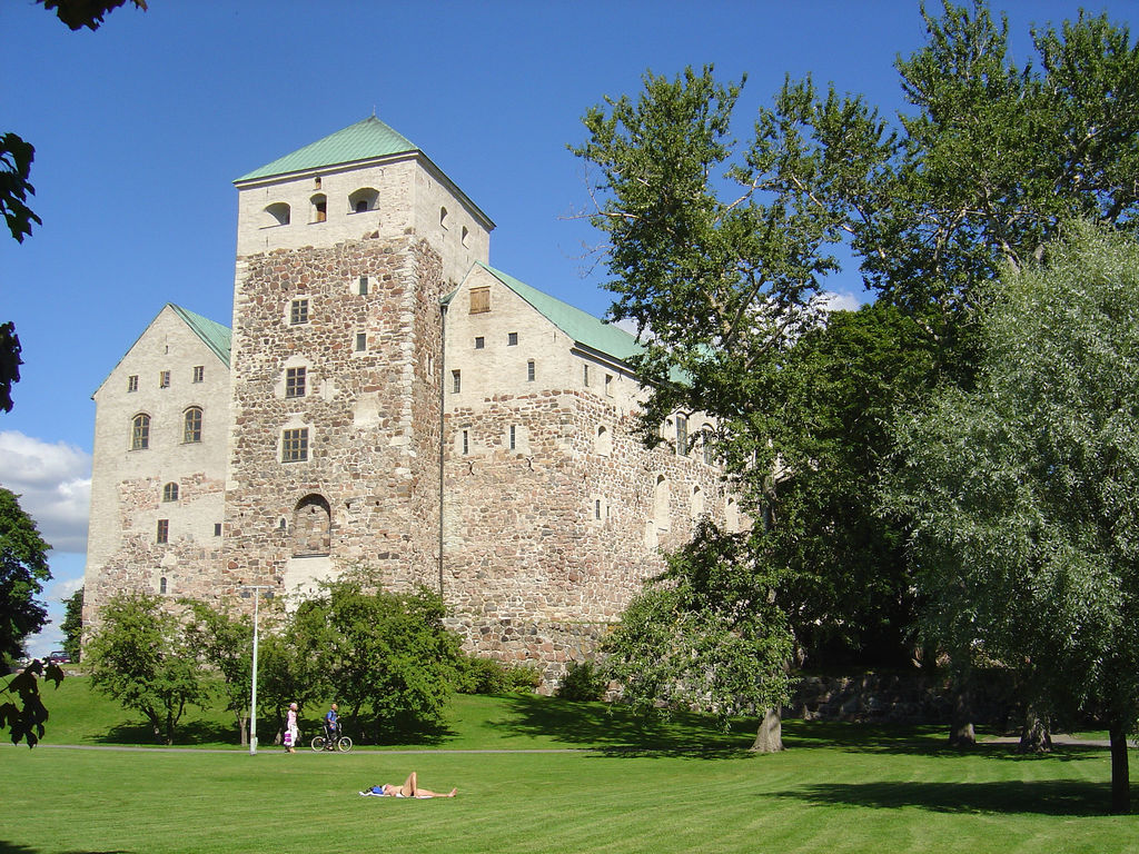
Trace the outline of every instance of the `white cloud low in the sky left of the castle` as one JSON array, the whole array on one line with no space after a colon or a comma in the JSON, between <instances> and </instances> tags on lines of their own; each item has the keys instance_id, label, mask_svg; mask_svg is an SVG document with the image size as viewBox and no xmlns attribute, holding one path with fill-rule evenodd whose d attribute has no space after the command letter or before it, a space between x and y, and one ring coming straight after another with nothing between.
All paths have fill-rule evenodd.
<instances>
[{"instance_id":1,"label":"white cloud low in the sky left of the castle","mask_svg":"<svg viewBox=\"0 0 1139 854\"><path fill-rule=\"evenodd\" d=\"M87 551L90 454L64 442L0 432L0 486L19 495L19 506L55 552Z\"/></svg>"}]
</instances>

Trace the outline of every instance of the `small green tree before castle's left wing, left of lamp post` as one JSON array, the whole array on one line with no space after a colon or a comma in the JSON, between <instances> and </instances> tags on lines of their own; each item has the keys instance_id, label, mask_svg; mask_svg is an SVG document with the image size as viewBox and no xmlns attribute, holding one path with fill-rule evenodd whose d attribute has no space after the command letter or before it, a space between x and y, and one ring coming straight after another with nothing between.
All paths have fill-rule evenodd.
<instances>
[{"instance_id":1,"label":"small green tree before castle's left wing, left of lamp post","mask_svg":"<svg viewBox=\"0 0 1139 854\"><path fill-rule=\"evenodd\" d=\"M141 712L166 745L187 704L208 697L208 674L181 621L146 593L121 593L100 613L88 643L91 684Z\"/></svg>"}]
</instances>

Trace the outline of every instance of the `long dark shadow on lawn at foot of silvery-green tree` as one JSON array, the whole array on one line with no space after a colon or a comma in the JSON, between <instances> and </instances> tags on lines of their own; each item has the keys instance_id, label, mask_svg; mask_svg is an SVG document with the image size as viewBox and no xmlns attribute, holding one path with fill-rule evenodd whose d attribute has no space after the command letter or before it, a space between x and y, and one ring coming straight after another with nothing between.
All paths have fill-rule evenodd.
<instances>
[{"instance_id":1,"label":"long dark shadow on lawn at foot of silvery-green tree","mask_svg":"<svg viewBox=\"0 0 1139 854\"><path fill-rule=\"evenodd\" d=\"M1106 815L1111 785L1084 780L1033 782L865 782L814 783L775 797L819 806L869 806L883 810L918 807L940 813L1034 815Z\"/></svg>"}]
</instances>

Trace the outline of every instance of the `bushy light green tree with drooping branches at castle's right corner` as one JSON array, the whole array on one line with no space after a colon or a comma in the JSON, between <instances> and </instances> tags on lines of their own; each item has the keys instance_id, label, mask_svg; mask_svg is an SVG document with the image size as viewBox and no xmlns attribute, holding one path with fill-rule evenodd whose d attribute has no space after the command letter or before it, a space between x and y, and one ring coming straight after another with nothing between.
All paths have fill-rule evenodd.
<instances>
[{"instance_id":1,"label":"bushy light green tree with drooping branches at castle's right corner","mask_svg":"<svg viewBox=\"0 0 1139 854\"><path fill-rule=\"evenodd\" d=\"M641 712L764 713L753 750L782 749L792 635L775 603L778 572L748 537L702 520L667 569L633 598L606 639L607 672Z\"/></svg>"}]
</instances>

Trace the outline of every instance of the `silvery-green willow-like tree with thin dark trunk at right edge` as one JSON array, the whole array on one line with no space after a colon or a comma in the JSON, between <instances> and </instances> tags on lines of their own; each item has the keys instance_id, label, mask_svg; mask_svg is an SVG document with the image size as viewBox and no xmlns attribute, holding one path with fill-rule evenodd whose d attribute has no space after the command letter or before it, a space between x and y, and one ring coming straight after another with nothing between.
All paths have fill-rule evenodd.
<instances>
[{"instance_id":1,"label":"silvery-green willow-like tree with thin dark trunk at right edge","mask_svg":"<svg viewBox=\"0 0 1139 854\"><path fill-rule=\"evenodd\" d=\"M924 627L1098 711L1112 807L1139 729L1139 247L1088 223L1009 272L976 387L899 425L886 504L911 525Z\"/></svg>"}]
</instances>

